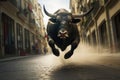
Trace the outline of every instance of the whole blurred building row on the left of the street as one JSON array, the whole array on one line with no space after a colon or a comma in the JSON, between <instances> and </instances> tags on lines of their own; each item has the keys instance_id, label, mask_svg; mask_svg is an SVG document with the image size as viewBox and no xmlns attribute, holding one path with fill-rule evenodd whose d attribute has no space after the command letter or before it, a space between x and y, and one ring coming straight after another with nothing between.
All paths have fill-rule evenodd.
<instances>
[{"instance_id":1,"label":"whole blurred building row on the left of the street","mask_svg":"<svg viewBox=\"0 0 120 80\"><path fill-rule=\"evenodd\" d=\"M0 56L44 54L43 17L38 0L0 0Z\"/></svg>"}]
</instances>

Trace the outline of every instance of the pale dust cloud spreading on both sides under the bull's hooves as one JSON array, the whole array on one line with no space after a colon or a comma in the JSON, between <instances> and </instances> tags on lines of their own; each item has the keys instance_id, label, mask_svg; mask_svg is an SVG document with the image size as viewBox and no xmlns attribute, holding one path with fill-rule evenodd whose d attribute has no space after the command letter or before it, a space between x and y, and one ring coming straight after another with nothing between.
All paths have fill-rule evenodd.
<instances>
[{"instance_id":1,"label":"pale dust cloud spreading on both sides under the bull's hooves","mask_svg":"<svg viewBox=\"0 0 120 80\"><path fill-rule=\"evenodd\" d=\"M59 57L56 57L51 52L51 54L44 56L42 60L44 60L44 64L55 64L59 67L67 65L90 65L91 62L100 63L101 57L109 53L101 53L104 52L102 49L101 52L99 52L97 47L90 47L88 45L79 44L79 46L75 49L74 54L69 59L64 59L65 53L67 53L69 50L70 46L68 46L67 49L63 52L59 50Z\"/></svg>"}]
</instances>

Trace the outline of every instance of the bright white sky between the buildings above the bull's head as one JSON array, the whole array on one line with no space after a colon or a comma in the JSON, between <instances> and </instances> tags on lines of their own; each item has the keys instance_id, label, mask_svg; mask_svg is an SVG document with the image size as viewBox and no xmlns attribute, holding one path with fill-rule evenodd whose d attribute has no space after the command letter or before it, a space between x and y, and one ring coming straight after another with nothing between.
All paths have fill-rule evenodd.
<instances>
[{"instance_id":1,"label":"bright white sky between the buildings above the bull's head","mask_svg":"<svg viewBox=\"0 0 120 80\"><path fill-rule=\"evenodd\" d=\"M38 2L41 4L41 7L43 7L43 5L45 5L47 11L50 13L54 13L55 11L57 11L60 8L64 8L64 9L70 11L69 1L70 0L38 0ZM42 8L42 10L43 10L43 8ZM46 27L49 17L46 16L44 14L44 12L43 12L43 15L44 15L44 23L45 23L45 27Z\"/></svg>"}]
</instances>

